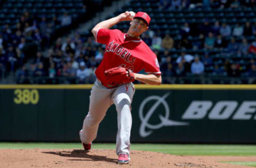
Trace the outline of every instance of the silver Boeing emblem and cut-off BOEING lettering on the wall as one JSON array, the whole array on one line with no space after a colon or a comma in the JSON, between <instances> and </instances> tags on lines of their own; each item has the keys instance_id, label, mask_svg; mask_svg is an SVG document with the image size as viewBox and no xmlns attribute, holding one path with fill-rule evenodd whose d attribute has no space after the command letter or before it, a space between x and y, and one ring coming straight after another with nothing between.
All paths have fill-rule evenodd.
<instances>
[{"instance_id":1,"label":"silver Boeing emblem and cut-off BOEING lettering on the wall","mask_svg":"<svg viewBox=\"0 0 256 168\"><path fill-rule=\"evenodd\" d=\"M164 96L149 96L145 98L139 107L139 117L141 120L140 136L147 137L153 130L160 129L168 126L181 126L189 125L188 122L170 120L169 105L165 100L170 93L166 93ZM148 111L145 112L145 105L155 100L155 103L151 105ZM159 114L161 122L159 124L150 124L150 117L155 113L156 108L163 104L165 111L162 112L165 115ZM213 103L210 100L192 100L187 109L181 115L181 120L256 120L256 101L243 101L238 103L235 100L221 100ZM146 131L149 129L149 131Z\"/></svg>"}]
</instances>

